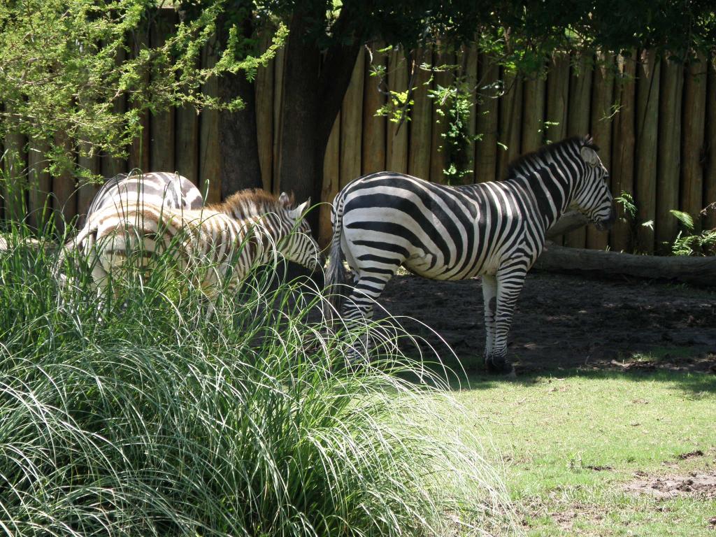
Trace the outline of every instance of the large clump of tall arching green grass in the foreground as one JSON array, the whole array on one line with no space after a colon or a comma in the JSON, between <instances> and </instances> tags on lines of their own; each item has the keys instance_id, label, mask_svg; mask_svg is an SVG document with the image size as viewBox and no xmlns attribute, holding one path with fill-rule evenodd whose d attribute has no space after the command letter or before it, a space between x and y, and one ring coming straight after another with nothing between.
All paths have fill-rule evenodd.
<instances>
[{"instance_id":1,"label":"large clump of tall arching green grass in the foreground","mask_svg":"<svg viewBox=\"0 0 716 537\"><path fill-rule=\"evenodd\" d=\"M442 381L395 342L347 365L309 281L263 267L208 314L167 261L100 300L49 238L5 238L0 534L518 532Z\"/></svg>"}]
</instances>

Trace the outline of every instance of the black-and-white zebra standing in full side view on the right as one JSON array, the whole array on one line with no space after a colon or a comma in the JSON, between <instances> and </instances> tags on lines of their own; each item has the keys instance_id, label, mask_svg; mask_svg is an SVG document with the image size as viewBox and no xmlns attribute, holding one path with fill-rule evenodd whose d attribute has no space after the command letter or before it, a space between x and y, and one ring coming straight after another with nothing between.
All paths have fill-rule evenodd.
<instances>
[{"instance_id":1,"label":"black-and-white zebra standing in full side view on the right","mask_svg":"<svg viewBox=\"0 0 716 537\"><path fill-rule=\"evenodd\" d=\"M333 203L333 236L326 269L332 306L345 281L354 286L342 307L347 321L372 316L373 304L398 267L435 280L482 276L485 367L510 372L507 336L528 269L546 231L569 209L599 230L614 223L609 177L591 137L571 137L524 155L508 178L445 186L401 173L380 172L346 185Z\"/></svg>"}]
</instances>

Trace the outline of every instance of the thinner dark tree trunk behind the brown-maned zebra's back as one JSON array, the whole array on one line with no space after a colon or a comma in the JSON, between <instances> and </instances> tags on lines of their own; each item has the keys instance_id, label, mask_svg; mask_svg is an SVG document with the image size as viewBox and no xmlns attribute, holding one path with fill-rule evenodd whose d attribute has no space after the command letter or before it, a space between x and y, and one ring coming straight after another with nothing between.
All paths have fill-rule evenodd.
<instances>
[{"instance_id":1,"label":"thinner dark tree trunk behind the brown-maned zebra's back","mask_svg":"<svg viewBox=\"0 0 716 537\"><path fill-rule=\"evenodd\" d=\"M231 9L227 7L227 9ZM217 21L221 49L228 39L228 15L222 14ZM243 21L244 37L251 37L251 19ZM254 83L243 72L226 73L218 84L221 100L226 102L241 97L244 107L238 112L219 112L219 161L221 175L221 198L243 188L262 188L261 161L258 158L256 136L256 94Z\"/></svg>"}]
</instances>

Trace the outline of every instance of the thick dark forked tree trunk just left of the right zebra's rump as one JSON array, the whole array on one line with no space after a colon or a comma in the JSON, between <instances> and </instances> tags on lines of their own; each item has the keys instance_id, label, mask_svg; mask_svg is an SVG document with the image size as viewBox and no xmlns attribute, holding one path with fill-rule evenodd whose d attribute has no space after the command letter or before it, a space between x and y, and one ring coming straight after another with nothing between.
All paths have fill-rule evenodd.
<instances>
[{"instance_id":1,"label":"thick dark forked tree trunk just left of the right zebra's rump","mask_svg":"<svg viewBox=\"0 0 716 537\"><path fill-rule=\"evenodd\" d=\"M350 16L344 6L334 24L342 35L342 20ZM334 121L341 109L360 44L335 44L324 52L306 39L306 14L296 11L291 19L286 44L284 106L281 112L279 140L279 184L292 190L296 200L321 201L323 160ZM276 179L274 179L275 181ZM318 230L319 211L311 211L308 220Z\"/></svg>"}]
</instances>

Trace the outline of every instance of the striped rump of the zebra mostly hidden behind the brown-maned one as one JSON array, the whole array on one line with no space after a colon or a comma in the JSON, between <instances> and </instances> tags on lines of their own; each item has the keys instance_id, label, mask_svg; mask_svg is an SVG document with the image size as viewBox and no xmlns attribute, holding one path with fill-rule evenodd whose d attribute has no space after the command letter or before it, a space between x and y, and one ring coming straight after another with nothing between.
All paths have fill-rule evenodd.
<instances>
[{"instance_id":1,"label":"striped rump of the zebra mostly hidden behind the brown-maned one","mask_svg":"<svg viewBox=\"0 0 716 537\"><path fill-rule=\"evenodd\" d=\"M199 189L178 173L120 173L107 179L97 190L85 221L104 207L117 207L134 198L175 209L198 209L204 203Z\"/></svg>"}]
</instances>

